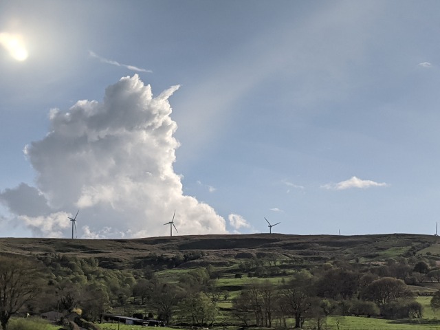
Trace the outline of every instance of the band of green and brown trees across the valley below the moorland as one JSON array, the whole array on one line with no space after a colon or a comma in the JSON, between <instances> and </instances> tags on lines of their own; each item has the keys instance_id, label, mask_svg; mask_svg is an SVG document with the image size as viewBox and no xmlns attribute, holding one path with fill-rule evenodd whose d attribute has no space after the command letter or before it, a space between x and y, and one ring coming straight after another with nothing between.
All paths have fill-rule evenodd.
<instances>
[{"instance_id":1,"label":"band of green and brown trees across the valley below the moorland","mask_svg":"<svg viewBox=\"0 0 440 330\"><path fill-rule=\"evenodd\" d=\"M281 262L250 259L235 272L270 276L279 272L256 271ZM329 315L385 318L421 318L423 309L408 285L439 281L435 263L416 258L384 263L332 263L307 265L283 272L281 281L254 281L239 292L219 287L224 271L208 265L182 273L166 283L149 265L138 270L109 270L96 259L54 254L39 258L0 256L0 323L19 311L80 310L91 321L112 309L126 316L157 318L167 324L213 325L219 322L219 301L230 302L228 323L245 327L303 327L306 320L321 329ZM239 276L237 276L239 275ZM236 273L236 278L246 276ZM278 277L279 278L279 277ZM231 298L232 296L232 298ZM432 297L440 308L440 293ZM139 309L144 311L140 314ZM224 321L223 321L224 322Z\"/></svg>"}]
</instances>

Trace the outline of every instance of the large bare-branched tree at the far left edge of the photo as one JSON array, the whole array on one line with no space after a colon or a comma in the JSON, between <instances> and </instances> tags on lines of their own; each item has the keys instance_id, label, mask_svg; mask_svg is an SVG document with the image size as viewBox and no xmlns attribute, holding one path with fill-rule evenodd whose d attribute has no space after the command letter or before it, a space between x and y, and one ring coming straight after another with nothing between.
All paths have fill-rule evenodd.
<instances>
[{"instance_id":1,"label":"large bare-branched tree at the far left edge of the photo","mask_svg":"<svg viewBox=\"0 0 440 330\"><path fill-rule=\"evenodd\" d=\"M0 323L8 329L10 317L30 301L42 287L41 265L17 256L0 256Z\"/></svg>"}]
</instances>

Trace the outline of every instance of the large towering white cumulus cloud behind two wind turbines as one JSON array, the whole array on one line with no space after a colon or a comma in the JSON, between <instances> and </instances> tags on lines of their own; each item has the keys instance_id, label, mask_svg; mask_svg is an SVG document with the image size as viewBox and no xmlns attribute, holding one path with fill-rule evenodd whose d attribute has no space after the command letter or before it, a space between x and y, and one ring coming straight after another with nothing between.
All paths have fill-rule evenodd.
<instances>
[{"instance_id":1,"label":"large towering white cumulus cloud behind two wind turbines","mask_svg":"<svg viewBox=\"0 0 440 330\"><path fill-rule=\"evenodd\" d=\"M183 195L173 170L179 142L168 98L178 88L153 97L135 75L109 86L102 102L50 111L50 132L25 147L36 187L7 189L0 201L43 236L68 236L77 209L83 238L164 236L174 210L179 234L225 233L225 220Z\"/></svg>"}]
</instances>

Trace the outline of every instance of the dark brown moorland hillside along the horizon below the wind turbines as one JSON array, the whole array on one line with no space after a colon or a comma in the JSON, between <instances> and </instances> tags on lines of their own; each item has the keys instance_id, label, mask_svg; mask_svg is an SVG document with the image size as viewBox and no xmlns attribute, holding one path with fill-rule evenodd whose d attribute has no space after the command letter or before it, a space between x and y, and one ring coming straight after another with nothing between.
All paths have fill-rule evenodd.
<instances>
[{"instance_id":1,"label":"dark brown moorland hillside along the horizon below the wind turbines","mask_svg":"<svg viewBox=\"0 0 440 330\"><path fill-rule=\"evenodd\" d=\"M440 254L438 237L419 234L377 234L362 236L234 234L150 237L144 239L37 239L0 238L2 254L69 254L94 257L102 267L143 267L153 259L165 262L179 257L182 267L208 263L224 264L242 256L270 256L272 259L326 261L345 259L381 261L412 256L420 251ZM428 250L427 250L428 249ZM197 261L197 262L195 262ZM156 260L156 262L159 262ZM188 265L187 265L188 267Z\"/></svg>"}]
</instances>

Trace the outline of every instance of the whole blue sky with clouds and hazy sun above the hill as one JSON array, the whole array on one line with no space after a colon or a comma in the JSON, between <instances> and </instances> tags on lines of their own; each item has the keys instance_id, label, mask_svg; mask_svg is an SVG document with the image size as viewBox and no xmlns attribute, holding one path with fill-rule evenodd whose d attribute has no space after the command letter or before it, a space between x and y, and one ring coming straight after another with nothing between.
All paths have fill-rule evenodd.
<instances>
[{"instance_id":1,"label":"whole blue sky with clouds and hazy sun above the hill","mask_svg":"<svg viewBox=\"0 0 440 330\"><path fill-rule=\"evenodd\" d=\"M439 15L0 1L0 236L434 234Z\"/></svg>"}]
</instances>

